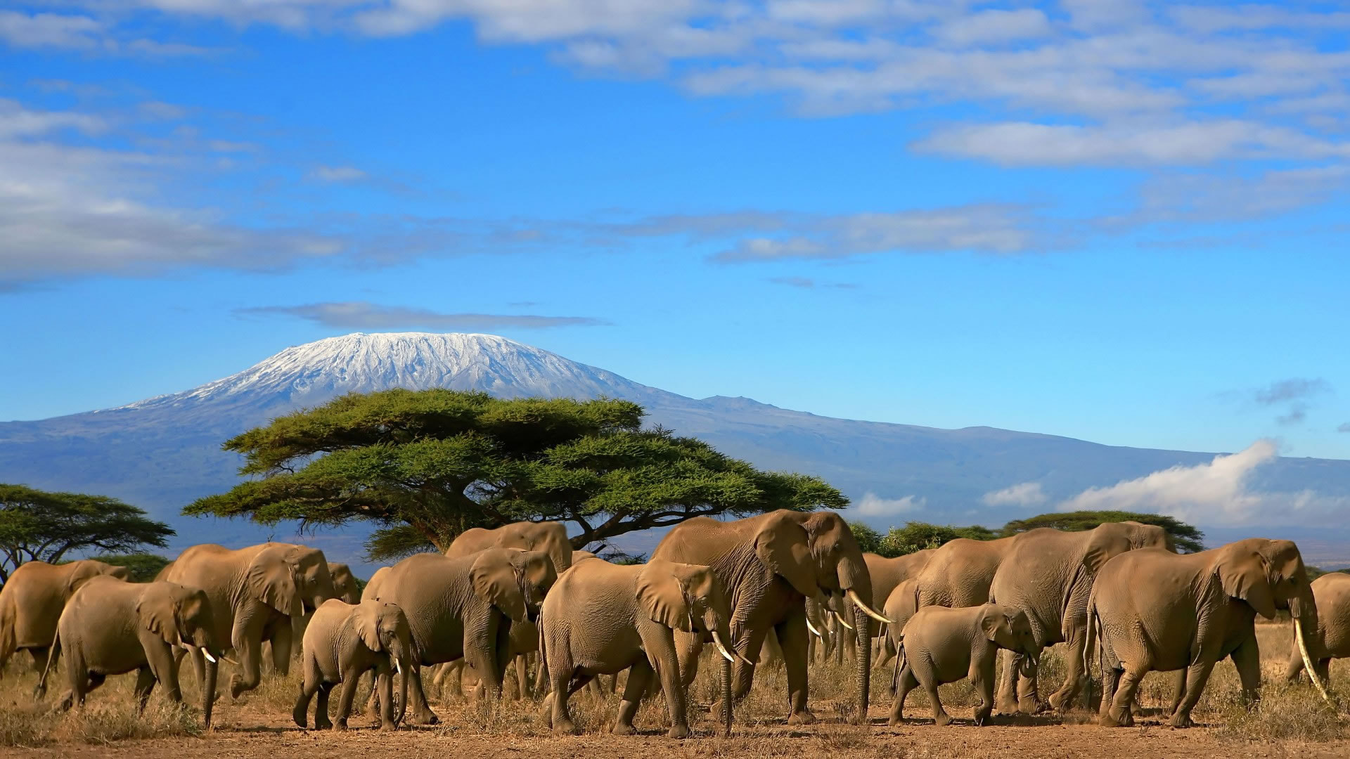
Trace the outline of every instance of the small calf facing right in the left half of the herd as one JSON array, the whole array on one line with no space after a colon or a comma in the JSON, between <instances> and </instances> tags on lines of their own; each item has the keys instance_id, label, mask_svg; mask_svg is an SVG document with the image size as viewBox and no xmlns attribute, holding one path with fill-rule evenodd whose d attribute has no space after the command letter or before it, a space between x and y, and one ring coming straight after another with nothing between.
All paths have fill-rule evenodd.
<instances>
[{"instance_id":1,"label":"small calf facing right in the left half of the herd","mask_svg":"<svg viewBox=\"0 0 1350 759\"><path fill-rule=\"evenodd\" d=\"M319 693L315 727L347 729L356 682L369 670L375 670L375 689L379 691L379 729L392 731L402 721L402 708L398 717L394 717L390 666L401 675L398 687L402 697L398 702L406 706L408 673L417 656L413 652L408 617L397 605L375 600L360 604L347 604L339 598L324 601L305 628L301 659L304 682L292 712L297 725L306 727L309 700ZM328 691L339 682L342 697L338 701L338 724L333 725L328 720Z\"/></svg>"}]
</instances>

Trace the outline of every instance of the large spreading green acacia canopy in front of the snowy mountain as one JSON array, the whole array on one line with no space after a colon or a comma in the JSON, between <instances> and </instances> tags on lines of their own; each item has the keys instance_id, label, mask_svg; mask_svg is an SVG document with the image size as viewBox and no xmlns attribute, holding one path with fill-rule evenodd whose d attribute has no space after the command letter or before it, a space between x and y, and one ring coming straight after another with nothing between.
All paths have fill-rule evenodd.
<instances>
[{"instance_id":1,"label":"large spreading green acacia canopy in front of the snowy mountain","mask_svg":"<svg viewBox=\"0 0 1350 759\"><path fill-rule=\"evenodd\" d=\"M845 508L815 477L759 471L707 443L643 429L629 401L494 398L459 390L352 393L224 443L252 475L188 515L263 524L371 521L371 560L471 527L568 521L572 546L694 516Z\"/></svg>"}]
</instances>

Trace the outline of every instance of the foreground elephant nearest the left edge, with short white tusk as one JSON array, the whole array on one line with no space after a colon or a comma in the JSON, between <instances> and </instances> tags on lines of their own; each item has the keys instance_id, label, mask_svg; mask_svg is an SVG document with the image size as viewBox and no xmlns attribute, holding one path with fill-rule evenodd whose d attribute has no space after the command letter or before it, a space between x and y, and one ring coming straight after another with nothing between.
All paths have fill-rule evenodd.
<instances>
[{"instance_id":1,"label":"foreground elephant nearest the left edge, with short white tusk","mask_svg":"<svg viewBox=\"0 0 1350 759\"><path fill-rule=\"evenodd\" d=\"M182 701L178 690L178 647L201 651L207 659L201 682L201 713L211 728L211 708L216 694L217 656L224 655L215 635L215 619L207 594L176 582L124 582L112 575L85 582L70 597L57 633L51 639L51 658L38 681L40 698L57 656L65 651L62 666L69 690L61 697L61 709L84 705L85 696L103 685L108 675L136 670L136 705L146 700L155 683L165 687L173 702Z\"/></svg>"}]
</instances>

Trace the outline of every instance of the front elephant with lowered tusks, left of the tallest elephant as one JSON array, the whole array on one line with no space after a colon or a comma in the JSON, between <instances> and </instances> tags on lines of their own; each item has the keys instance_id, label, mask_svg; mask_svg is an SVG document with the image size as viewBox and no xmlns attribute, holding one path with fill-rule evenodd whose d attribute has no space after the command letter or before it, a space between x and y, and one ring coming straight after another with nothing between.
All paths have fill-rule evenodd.
<instances>
[{"instance_id":1,"label":"front elephant with lowered tusks, left of the tallest elephant","mask_svg":"<svg viewBox=\"0 0 1350 759\"><path fill-rule=\"evenodd\" d=\"M729 620L726 590L706 566L662 559L640 566L602 559L576 565L559 578L540 613L540 660L552 686L545 723L555 732L575 732L568 697L598 674L628 670L613 732L633 733L633 714L655 674L670 710L667 735L688 737L674 633L706 632L732 660L724 643L730 639ZM722 698L730 702L730 670L722 674Z\"/></svg>"}]
</instances>

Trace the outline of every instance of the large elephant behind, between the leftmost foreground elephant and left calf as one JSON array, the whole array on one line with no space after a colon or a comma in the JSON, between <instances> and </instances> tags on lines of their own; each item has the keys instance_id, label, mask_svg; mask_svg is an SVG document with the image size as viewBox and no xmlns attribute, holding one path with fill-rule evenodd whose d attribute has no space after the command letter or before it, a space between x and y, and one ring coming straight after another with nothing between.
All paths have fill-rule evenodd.
<instances>
[{"instance_id":1,"label":"large elephant behind, between the leftmost foreground elephant and left calf","mask_svg":"<svg viewBox=\"0 0 1350 759\"><path fill-rule=\"evenodd\" d=\"M324 552L293 543L259 543L239 550L213 543L193 546L157 579L207 592L216 639L228 640L239 656L242 671L230 677L231 698L258 687L263 640L271 643L273 667L285 675L290 669L292 617L304 616L335 596ZM202 658L200 652L192 658L200 678Z\"/></svg>"}]
</instances>

